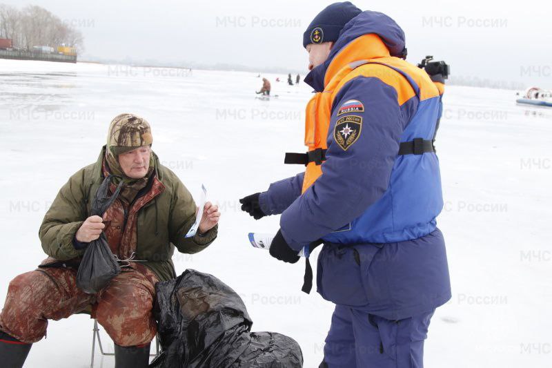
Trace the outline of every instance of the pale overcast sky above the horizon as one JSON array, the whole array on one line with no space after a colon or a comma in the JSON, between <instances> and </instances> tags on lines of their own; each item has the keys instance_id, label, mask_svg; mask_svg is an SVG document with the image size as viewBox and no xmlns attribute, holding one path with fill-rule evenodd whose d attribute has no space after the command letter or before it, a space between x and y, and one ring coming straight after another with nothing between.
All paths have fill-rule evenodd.
<instances>
[{"instance_id":1,"label":"pale overcast sky above the horizon","mask_svg":"<svg viewBox=\"0 0 552 368\"><path fill-rule=\"evenodd\" d=\"M83 57L306 70L302 34L333 1L0 0L42 6L84 36ZM408 61L434 55L457 78L552 88L552 6L544 0L353 1L391 16Z\"/></svg>"}]
</instances>

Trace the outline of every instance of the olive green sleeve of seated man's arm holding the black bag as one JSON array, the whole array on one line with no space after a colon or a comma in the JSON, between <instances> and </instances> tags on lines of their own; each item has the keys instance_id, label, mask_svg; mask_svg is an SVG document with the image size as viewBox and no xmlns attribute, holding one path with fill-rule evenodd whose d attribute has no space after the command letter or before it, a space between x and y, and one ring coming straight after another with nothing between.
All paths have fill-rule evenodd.
<instances>
[{"instance_id":1,"label":"olive green sleeve of seated man's arm holding the black bag","mask_svg":"<svg viewBox=\"0 0 552 368\"><path fill-rule=\"evenodd\" d=\"M70 260L83 255L72 240L86 220L86 197L83 189L84 171L78 171L61 187L39 230L42 249L57 260Z\"/></svg>"}]
</instances>

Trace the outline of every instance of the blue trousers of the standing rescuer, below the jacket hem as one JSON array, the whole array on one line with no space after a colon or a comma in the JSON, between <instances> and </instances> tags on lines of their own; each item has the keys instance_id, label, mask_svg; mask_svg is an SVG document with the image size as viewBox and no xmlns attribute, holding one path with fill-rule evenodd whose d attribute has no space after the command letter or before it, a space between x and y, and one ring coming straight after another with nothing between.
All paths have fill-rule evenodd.
<instances>
[{"instance_id":1,"label":"blue trousers of the standing rescuer, below the jacket hem","mask_svg":"<svg viewBox=\"0 0 552 368\"><path fill-rule=\"evenodd\" d=\"M336 305L320 367L422 368L434 311L393 321Z\"/></svg>"}]
</instances>

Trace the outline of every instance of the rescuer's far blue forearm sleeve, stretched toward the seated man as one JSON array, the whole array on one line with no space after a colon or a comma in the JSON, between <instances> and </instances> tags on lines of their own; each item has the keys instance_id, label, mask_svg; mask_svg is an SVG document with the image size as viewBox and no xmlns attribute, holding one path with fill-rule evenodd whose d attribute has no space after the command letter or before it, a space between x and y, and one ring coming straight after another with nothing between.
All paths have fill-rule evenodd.
<instances>
[{"instance_id":1,"label":"rescuer's far blue forearm sleeve, stretched toward the seated man","mask_svg":"<svg viewBox=\"0 0 552 368\"><path fill-rule=\"evenodd\" d=\"M262 211L266 215L279 215L284 212L301 195L304 176L303 172L270 184L268 191L259 195L259 206Z\"/></svg>"}]
</instances>

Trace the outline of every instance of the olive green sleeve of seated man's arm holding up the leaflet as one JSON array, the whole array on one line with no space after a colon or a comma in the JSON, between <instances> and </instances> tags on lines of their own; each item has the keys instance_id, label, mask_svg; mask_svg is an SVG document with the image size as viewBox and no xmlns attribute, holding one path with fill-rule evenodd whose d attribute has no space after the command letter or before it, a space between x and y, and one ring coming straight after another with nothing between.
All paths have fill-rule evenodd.
<instances>
[{"instance_id":1,"label":"olive green sleeve of seated man's arm holding up the leaflet","mask_svg":"<svg viewBox=\"0 0 552 368\"><path fill-rule=\"evenodd\" d=\"M218 225L205 234L199 231L192 238L184 238L195 222L197 209L192 195L180 180L175 180L170 204L169 236L181 253L197 253L217 238Z\"/></svg>"}]
</instances>

